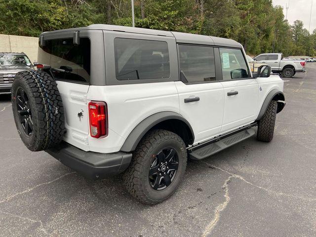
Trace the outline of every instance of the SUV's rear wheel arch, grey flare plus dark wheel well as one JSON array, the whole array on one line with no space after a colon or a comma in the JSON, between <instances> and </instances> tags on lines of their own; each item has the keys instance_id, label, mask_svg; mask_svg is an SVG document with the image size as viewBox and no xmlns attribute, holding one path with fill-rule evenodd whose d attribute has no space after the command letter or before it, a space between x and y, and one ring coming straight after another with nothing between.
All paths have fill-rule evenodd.
<instances>
[{"instance_id":1,"label":"SUV's rear wheel arch, grey flare plus dark wheel well","mask_svg":"<svg viewBox=\"0 0 316 237\"><path fill-rule=\"evenodd\" d=\"M183 116L175 112L159 112L142 120L127 136L120 151L134 151L144 135L152 129L166 129L178 134L186 144L193 144L193 129Z\"/></svg>"}]
</instances>

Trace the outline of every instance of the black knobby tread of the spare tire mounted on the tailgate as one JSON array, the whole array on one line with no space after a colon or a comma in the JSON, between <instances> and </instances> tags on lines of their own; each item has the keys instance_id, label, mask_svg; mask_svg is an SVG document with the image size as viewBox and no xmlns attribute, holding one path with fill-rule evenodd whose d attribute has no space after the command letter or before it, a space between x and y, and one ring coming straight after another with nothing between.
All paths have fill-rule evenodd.
<instances>
[{"instance_id":1,"label":"black knobby tread of the spare tire mounted on the tailgate","mask_svg":"<svg viewBox=\"0 0 316 237\"><path fill-rule=\"evenodd\" d=\"M32 116L36 120L35 137L32 144L25 145L31 151L43 151L56 146L62 141L66 130L63 103L55 80L45 72L33 70L17 73L14 81L17 80L30 89L32 95L28 97L34 97L36 104L32 109ZM15 89L14 82L12 89ZM11 94L12 103L15 103L14 91ZM19 134L22 138L22 132Z\"/></svg>"}]
</instances>

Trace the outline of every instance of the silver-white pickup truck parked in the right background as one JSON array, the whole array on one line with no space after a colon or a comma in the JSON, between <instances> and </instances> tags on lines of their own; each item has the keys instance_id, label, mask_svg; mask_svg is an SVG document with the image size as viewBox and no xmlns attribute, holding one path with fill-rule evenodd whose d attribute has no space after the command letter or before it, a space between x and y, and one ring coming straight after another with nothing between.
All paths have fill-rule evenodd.
<instances>
[{"instance_id":1,"label":"silver-white pickup truck parked in the right background","mask_svg":"<svg viewBox=\"0 0 316 237\"><path fill-rule=\"evenodd\" d=\"M283 60L282 53L262 53L254 60L271 66L273 73L279 73L284 78L291 78L296 72L306 72L304 60Z\"/></svg>"}]
</instances>

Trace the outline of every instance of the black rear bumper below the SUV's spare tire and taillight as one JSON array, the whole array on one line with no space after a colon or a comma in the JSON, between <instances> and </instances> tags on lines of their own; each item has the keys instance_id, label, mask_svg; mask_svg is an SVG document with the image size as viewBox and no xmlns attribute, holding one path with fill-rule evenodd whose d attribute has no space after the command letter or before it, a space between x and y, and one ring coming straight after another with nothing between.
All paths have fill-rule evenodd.
<instances>
[{"instance_id":1,"label":"black rear bumper below the SUV's spare tire and taillight","mask_svg":"<svg viewBox=\"0 0 316 237\"><path fill-rule=\"evenodd\" d=\"M128 167L132 158L131 153L125 152L111 154L85 152L66 142L45 152L90 179L119 174Z\"/></svg>"}]
</instances>

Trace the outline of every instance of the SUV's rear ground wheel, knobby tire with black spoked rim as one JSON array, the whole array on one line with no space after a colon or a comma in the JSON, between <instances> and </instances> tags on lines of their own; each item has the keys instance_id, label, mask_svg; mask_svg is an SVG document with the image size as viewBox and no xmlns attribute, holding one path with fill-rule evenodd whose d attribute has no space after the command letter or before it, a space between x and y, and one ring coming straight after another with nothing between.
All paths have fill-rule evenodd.
<instances>
[{"instance_id":1,"label":"SUV's rear ground wheel, knobby tire with black spoked rim","mask_svg":"<svg viewBox=\"0 0 316 237\"><path fill-rule=\"evenodd\" d=\"M128 192L145 204L156 204L178 188L187 166L186 145L177 134L152 130L139 143L123 174Z\"/></svg>"}]
</instances>

